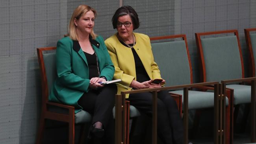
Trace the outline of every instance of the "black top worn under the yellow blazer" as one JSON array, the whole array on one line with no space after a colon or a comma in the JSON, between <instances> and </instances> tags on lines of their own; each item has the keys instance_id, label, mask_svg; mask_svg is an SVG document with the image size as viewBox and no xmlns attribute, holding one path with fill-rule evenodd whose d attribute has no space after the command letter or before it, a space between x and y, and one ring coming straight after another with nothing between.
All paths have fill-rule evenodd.
<instances>
[{"instance_id":1,"label":"black top worn under the yellow blazer","mask_svg":"<svg viewBox=\"0 0 256 144\"><path fill-rule=\"evenodd\" d=\"M122 45L128 47L124 42L120 41ZM133 44L129 44L132 46ZM129 48L129 47L128 47ZM134 48L132 48L132 54L134 55L134 62L135 62L135 70L136 70L136 80L140 83L144 81L149 81L150 78L145 70L145 67L143 66L143 63L141 62L141 59L139 58L139 55L136 53Z\"/></svg>"}]
</instances>

